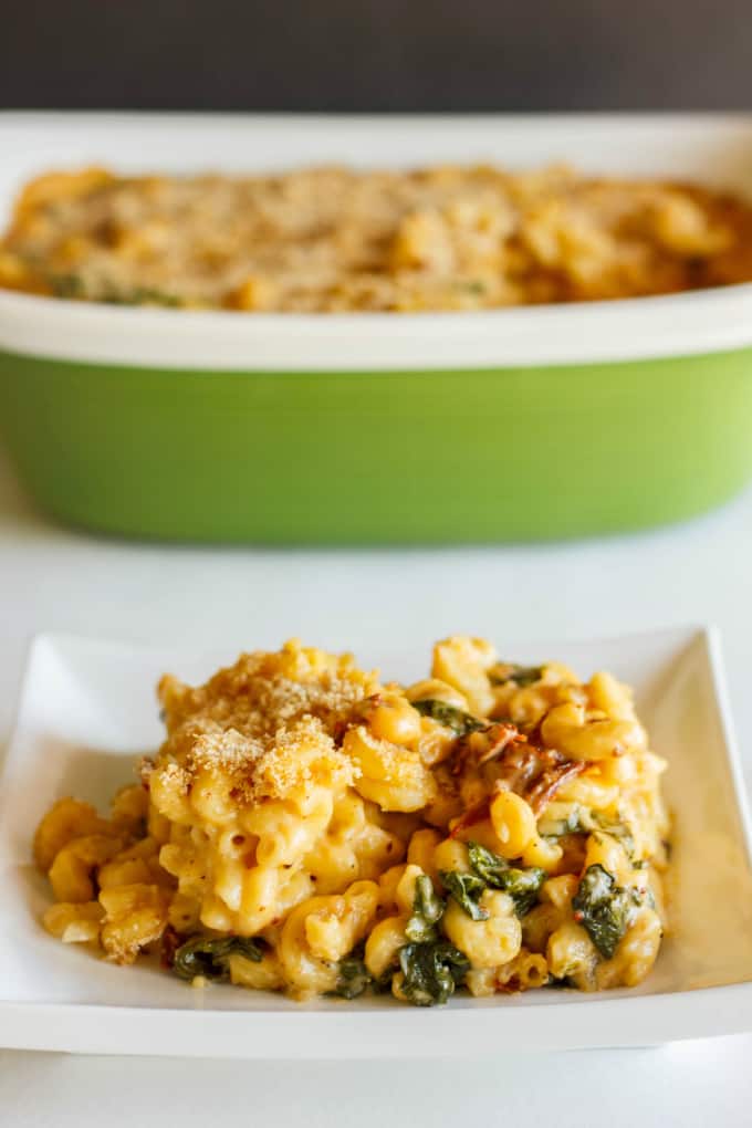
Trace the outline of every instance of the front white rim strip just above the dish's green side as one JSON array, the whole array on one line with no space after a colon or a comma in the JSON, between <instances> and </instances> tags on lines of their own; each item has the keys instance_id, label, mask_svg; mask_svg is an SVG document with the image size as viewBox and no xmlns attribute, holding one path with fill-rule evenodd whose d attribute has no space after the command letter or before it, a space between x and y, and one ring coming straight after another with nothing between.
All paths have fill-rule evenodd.
<instances>
[{"instance_id":1,"label":"front white rim strip just above the dish's green side","mask_svg":"<svg viewBox=\"0 0 752 1128\"><path fill-rule=\"evenodd\" d=\"M0 291L0 349L138 368L276 372L530 368L752 346L752 283L474 314L123 309Z\"/></svg>"}]
</instances>

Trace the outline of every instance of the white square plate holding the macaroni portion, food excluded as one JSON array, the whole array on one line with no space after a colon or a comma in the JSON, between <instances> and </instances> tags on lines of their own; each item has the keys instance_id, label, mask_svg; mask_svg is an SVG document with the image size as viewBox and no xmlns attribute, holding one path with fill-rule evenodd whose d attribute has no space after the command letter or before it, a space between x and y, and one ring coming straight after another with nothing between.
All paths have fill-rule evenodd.
<instances>
[{"instance_id":1,"label":"white square plate holding the macaroni portion, food excluded","mask_svg":"<svg viewBox=\"0 0 752 1128\"><path fill-rule=\"evenodd\" d=\"M359 653L406 680L428 640ZM0 1045L99 1054L426 1057L510 1049L645 1046L752 1030L750 825L710 631L505 646L582 675L610 669L637 690L653 748L670 761L672 935L635 990L538 990L414 1010L390 998L295 1004L229 986L193 990L154 966L118 968L45 934L46 882L30 864L45 809L74 794L103 808L160 740L153 687L165 670L203 679L235 655L186 656L76 637L33 645L0 786Z\"/></svg>"}]
</instances>

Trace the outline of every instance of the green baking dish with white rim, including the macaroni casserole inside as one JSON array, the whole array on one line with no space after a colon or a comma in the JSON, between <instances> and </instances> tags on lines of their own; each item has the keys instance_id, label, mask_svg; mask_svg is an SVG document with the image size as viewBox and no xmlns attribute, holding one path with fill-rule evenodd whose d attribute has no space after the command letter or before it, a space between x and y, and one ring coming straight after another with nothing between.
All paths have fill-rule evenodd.
<instances>
[{"instance_id":1,"label":"green baking dish with white rim, including the macaroni casserole inside","mask_svg":"<svg viewBox=\"0 0 752 1128\"><path fill-rule=\"evenodd\" d=\"M540 539L752 473L743 116L7 114L0 140L0 428L62 520Z\"/></svg>"}]
</instances>

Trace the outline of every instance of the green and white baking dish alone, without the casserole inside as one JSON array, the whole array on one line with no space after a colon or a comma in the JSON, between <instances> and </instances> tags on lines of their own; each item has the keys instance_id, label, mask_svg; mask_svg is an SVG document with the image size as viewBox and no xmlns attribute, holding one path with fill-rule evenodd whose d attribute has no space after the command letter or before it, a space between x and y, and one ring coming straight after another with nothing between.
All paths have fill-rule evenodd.
<instances>
[{"instance_id":1,"label":"green and white baking dish alone, without the casserole inside","mask_svg":"<svg viewBox=\"0 0 752 1128\"><path fill-rule=\"evenodd\" d=\"M54 129L53 129L54 125ZM746 191L743 116L0 115L35 171L566 155ZM746 176L746 180L745 180ZM459 543L658 525L752 477L752 287L451 315L129 309L0 291L0 433L39 505L172 540Z\"/></svg>"}]
</instances>

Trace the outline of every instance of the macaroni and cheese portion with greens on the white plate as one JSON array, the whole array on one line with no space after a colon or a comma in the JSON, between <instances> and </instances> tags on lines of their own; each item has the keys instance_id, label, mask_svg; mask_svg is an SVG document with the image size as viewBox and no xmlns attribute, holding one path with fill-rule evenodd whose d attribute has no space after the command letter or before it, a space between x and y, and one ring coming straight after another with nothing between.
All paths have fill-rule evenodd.
<instances>
[{"instance_id":1,"label":"macaroni and cheese portion with greens on the white plate","mask_svg":"<svg viewBox=\"0 0 752 1128\"><path fill-rule=\"evenodd\" d=\"M36 831L64 943L418 1006L649 972L665 763L611 675L455 636L404 686L293 640L159 698L167 738L109 817L63 797Z\"/></svg>"}]
</instances>

